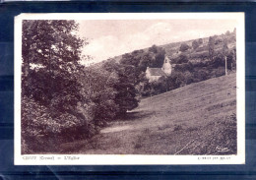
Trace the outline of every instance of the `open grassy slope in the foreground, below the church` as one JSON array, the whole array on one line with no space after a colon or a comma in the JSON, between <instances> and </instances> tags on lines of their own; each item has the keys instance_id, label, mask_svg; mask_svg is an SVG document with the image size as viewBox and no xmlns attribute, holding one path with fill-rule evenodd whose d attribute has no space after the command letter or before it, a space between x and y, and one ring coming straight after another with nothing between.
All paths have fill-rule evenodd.
<instances>
[{"instance_id":1,"label":"open grassy slope in the foreground, below the church","mask_svg":"<svg viewBox=\"0 0 256 180\"><path fill-rule=\"evenodd\" d=\"M90 142L77 142L80 150L72 152L236 153L235 75L143 99L126 119L113 122Z\"/></svg>"}]
</instances>

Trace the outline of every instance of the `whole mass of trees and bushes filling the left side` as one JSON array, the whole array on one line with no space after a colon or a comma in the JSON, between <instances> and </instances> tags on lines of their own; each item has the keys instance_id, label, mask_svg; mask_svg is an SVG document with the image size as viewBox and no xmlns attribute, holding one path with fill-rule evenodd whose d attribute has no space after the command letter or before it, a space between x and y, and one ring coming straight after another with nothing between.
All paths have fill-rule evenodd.
<instances>
[{"instance_id":1,"label":"whole mass of trees and bushes filling the left side","mask_svg":"<svg viewBox=\"0 0 256 180\"><path fill-rule=\"evenodd\" d=\"M85 68L75 21L23 22L22 150L56 151L87 139L138 105L129 68Z\"/></svg>"}]
</instances>

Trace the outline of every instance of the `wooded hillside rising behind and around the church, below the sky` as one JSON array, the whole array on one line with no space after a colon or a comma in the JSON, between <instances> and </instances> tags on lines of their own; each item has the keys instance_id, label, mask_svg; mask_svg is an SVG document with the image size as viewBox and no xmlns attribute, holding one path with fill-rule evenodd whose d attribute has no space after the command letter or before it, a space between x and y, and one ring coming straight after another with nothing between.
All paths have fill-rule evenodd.
<instances>
[{"instance_id":1,"label":"wooded hillside rising behind and around the church, below the sky","mask_svg":"<svg viewBox=\"0 0 256 180\"><path fill-rule=\"evenodd\" d=\"M155 81L149 80L149 75L148 78L146 76L147 68L161 68L165 57L168 57L171 64L171 75L162 76ZM144 98L224 76L225 60L227 72L235 72L235 30L221 35L134 50L97 63L92 68L100 71L107 69L105 67L118 66L122 69L121 76L127 77L129 83L135 87L136 96Z\"/></svg>"}]
</instances>

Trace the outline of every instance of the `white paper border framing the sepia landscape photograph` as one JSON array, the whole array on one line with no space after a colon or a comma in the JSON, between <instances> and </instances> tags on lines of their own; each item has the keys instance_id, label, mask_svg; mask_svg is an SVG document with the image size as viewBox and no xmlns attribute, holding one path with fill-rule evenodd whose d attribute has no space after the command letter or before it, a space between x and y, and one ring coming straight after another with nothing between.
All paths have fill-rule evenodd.
<instances>
[{"instance_id":1,"label":"white paper border framing the sepia landscape photograph","mask_svg":"<svg viewBox=\"0 0 256 180\"><path fill-rule=\"evenodd\" d=\"M22 20L236 20L236 111L237 155L108 155L108 154L21 154ZM15 164L244 164L245 163L245 39L244 13L107 13L22 14L15 18ZM73 157L71 159L70 157ZM48 158L48 159L46 159ZM79 159L77 159L79 158Z\"/></svg>"}]
</instances>

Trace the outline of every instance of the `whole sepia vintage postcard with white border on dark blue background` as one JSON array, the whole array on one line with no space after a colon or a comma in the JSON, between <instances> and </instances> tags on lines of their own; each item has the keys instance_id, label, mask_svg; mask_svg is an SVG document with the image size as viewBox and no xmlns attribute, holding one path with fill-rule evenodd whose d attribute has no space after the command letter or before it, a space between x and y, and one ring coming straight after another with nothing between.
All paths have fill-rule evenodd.
<instances>
[{"instance_id":1,"label":"whole sepia vintage postcard with white border on dark blue background","mask_svg":"<svg viewBox=\"0 0 256 180\"><path fill-rule=\"evenodd\" d=\"M245 163L244 13L15 18L15 164Z\"/></svg>"}]
</instances>

